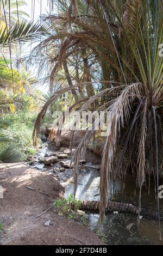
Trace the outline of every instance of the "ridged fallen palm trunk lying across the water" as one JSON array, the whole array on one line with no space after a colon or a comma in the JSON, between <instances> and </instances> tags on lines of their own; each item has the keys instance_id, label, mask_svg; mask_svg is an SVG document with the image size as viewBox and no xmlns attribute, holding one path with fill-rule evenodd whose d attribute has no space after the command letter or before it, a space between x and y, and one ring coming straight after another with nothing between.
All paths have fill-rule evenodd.
<instances>
[{"instance_id":1,"label":"ridged fallen palm trunk lying across the water","mask_svg":"<svg viewBox=\"0 0 163 256\"><path fill-rule=\"evenodd\" d=\"M99 201L84 201L82 200L80 204L80 210L83 211L99 211ZM114 212L118 211L120 213L126 214L135 214L138 213L138 206L128 203L121 202L108 202L106 212ZM141 208L140 215L147 218L158 218L158 212L152 212L151 210L147 210L145 208Z\"/></svg>"}]
</instances>

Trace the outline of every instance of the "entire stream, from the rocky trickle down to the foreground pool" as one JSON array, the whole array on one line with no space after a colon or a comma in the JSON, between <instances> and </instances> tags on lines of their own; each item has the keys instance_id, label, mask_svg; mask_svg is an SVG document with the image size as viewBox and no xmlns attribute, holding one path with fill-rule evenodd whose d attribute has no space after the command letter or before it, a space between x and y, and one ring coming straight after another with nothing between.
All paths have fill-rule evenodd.
<instances>
[{"instance_id":1,"label":"entire stream, from the rocky trickle down to the foreground pool","mask_svg":"<svg viewBox=\"0 0 163 256\"><path fill-rule=\"evenodd\" d=\"M65 187L65 198L73 194L73 173L71 169L66 169L65 172L55 172L55 167L61 167L60 163L55 163L53 166L45 166L38 160L40 157L49 155L57 151L52 144L43 143L36 153L36 159L30 163L30 167L37 168L42 172L51 172L55 179L57 179L62 186ZM67 160L67 159L63 159ZM89 168L82 168L79 170L78 187L76 198L82 200L99 200L99 170L97 166L91 162L86 162L85 166ZM110 184L108 200L116 202L125 202L138 205L139 190L136 190L133 178L127 176L126 186L123 191L123 184L121 179L116 179L114 184ZM122 193L123 191L123 193ZM148 195L148 188L142 188L142 207L156 210L156 199L154 186ZM160 212L163 215L163 199L160 199ZM99 214L86 212L86 219L88 227L97 234L108 245L163 245L163 222L161 221L162 240L159 240L159 225L157 220L149 220L142 218L139 229L137 229L137 217L130 214L106 214L103 228L99 226Z\"/></svg>"}]
</instances>

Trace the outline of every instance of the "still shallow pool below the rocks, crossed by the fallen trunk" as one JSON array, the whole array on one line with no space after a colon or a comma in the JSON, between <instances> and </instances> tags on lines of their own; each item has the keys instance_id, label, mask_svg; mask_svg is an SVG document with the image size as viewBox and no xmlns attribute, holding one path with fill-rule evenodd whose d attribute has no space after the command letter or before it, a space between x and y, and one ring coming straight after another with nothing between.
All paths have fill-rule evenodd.
<instances>
[{"instance_id":1,"label":"still shallow pool below the rocks, crossed by the fallen trunk","mask_svg":"<svg viewBox=\"0 0 163 256\"><path fill-rule=\"evenodd\" d=\"M73 181L73 178L71 179ZM108 200L117 202L127 202L138 205L138 190L135 196L134 181L128 177L126 180L126 188L122 194L122 181L117 179L110 184ZM65 197L73 193L73 183L70 182L65 186ZM83 200L99 200L99 172L88 172L83 170L79 172L77 199ZM163 201L163 200L162 200ZM162 203L161 214L162 214ZM156 201L154 188L151 195L148 196L148 189L143 187L142 190L142 206L156 210ZM99 215L87 213L87 220L91 230L99 228ZM133 223L133 227L128 230L127 225ZM161 222L161 231L163 235L163 223ZM99 228L103 239L108 244L113 245L163 245L163 240L159 240L158 221L142 218L139 230L137 230L137 217L129 214L106 214L103 228Z\"/></svg>"}]
</instances>

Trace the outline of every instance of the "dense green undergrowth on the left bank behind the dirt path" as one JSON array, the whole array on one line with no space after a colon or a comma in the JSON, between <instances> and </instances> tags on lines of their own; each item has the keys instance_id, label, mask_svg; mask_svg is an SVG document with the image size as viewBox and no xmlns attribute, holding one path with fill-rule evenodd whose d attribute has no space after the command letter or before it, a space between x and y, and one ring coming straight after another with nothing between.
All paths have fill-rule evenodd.
<instances>
[{"instance_id":1,"label":"dense green undergrowth on the left bank behind the dirt path","mask_svg":"<svg viewBox=\"0 0 163 256\"><path fill-rule=\"evenodd\" d=\"M32 133L36 114L18 112L0 115L0 161L23 161L28 155L34 155ZM52 118L45 118L42 127L52 124L52 121Z\"/></svg>"}]
</instances>

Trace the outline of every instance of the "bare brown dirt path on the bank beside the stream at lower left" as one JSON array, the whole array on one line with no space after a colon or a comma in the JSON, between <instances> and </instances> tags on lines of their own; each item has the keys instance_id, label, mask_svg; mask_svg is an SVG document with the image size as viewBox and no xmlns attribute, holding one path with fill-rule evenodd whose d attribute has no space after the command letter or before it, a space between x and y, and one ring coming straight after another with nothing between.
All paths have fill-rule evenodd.
<instances>
[{"instance_id":1,"label":"bare brown dirt path on the bank beside the stream at lower left","mask_svg":"<svg viewBox=\"0 0 163 256\"><path fill-rule=\"evenodd\" d=\"M30 169L23 163L0 164L0 185L4 191L0 199L2 244L103 245L87 227L58 216L53 209L36 218L64 193L51 174ZM51 224L45 226L48 220Z\"/></svg>"}]
</instances>

